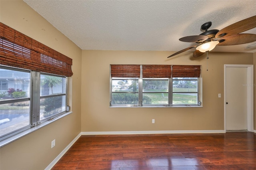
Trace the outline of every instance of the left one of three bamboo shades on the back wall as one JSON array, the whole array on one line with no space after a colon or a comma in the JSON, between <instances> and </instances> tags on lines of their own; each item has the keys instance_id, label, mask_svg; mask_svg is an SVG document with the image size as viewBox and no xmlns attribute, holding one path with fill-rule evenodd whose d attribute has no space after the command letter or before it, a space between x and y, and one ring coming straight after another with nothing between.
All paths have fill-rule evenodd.
<instances>
[{"instance_id":1,"label":"left one of three bamboo shades on the back wall","mask_svg":"<svg viewBox=\"0 0 256 170\"><path fill-rule=\"evenodd\" d=\"M140 77L140 65L110 65L111 77Z\"/></svg>"}]
</instances>

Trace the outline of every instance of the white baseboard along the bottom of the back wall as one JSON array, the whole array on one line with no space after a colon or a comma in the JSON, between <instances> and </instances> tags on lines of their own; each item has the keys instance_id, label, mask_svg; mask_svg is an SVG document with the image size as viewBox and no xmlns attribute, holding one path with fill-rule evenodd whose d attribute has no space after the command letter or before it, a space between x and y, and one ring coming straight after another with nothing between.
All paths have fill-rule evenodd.
<instances>
[{"instance_id":1,"label":"white baseboard along the bottom of the back wall","mask_svg":"<svg viewBox=\"0 0 256 170\"><path fill-rule=\"evenodd\" d=\"M82 135L102 135L102 134L180 134L180 133L225 133L225 130L157 130L157 131L81 132Z\"/></svg>"}]
</instances>

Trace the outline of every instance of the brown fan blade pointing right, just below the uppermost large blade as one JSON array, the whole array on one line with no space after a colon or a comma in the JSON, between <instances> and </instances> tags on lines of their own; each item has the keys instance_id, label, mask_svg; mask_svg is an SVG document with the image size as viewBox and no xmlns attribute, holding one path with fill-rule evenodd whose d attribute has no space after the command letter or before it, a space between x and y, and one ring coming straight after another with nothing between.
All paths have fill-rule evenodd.
<instances>
[{"instance_id":1,"label":"brown fan blade pointing right, just below the uppermost large blade","mask_svg":"<svg viewBox=\"0 0 256 170\"><path fill-rule=\"evenodd\" d=\"M224 40L224 41L223 41ZM218 45L238 45L256 41L256 34L235 34L218 40Z\"/></svg>"}]
</instances>

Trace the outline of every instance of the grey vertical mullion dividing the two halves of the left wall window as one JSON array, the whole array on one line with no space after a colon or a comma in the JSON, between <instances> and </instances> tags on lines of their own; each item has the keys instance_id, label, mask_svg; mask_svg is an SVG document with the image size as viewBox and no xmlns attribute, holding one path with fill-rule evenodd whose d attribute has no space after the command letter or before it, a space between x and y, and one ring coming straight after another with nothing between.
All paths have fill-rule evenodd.
<instances>
[{"instance_id":1,"label":"grey vertical mullion dividing the two halves of the left wall window","mask_svg":"<svg viewBox=\"0 0 256 170\"><path fill-rule=\"evenodd\" d=\"M36 126L40 120L40 72L32 71L32 100L31 119L32 126Z\"/></svg>"}]
</instances>

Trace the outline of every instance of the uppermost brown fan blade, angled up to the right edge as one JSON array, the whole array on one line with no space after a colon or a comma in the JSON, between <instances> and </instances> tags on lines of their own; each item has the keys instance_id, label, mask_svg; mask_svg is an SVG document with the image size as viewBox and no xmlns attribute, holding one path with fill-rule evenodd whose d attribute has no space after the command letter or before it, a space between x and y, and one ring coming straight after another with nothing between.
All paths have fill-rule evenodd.
<instances>
[{"instance_id":1,"label":"uppermost brown fan blade, angled up to the right edge","mask_svg":"<svg viewBox=\"0 0 256 170\"><path fill-rule=\"evenodd\" d=\"M252 28L256 27L256 16L252 16L250 18L246 18L244 20L238 21L230 26L227 26L220 30L215 37L216 38L224 38L227 36L232 36L235 34L239 34L241 32L245 32Z\"/></svg>"}]
</instances>

